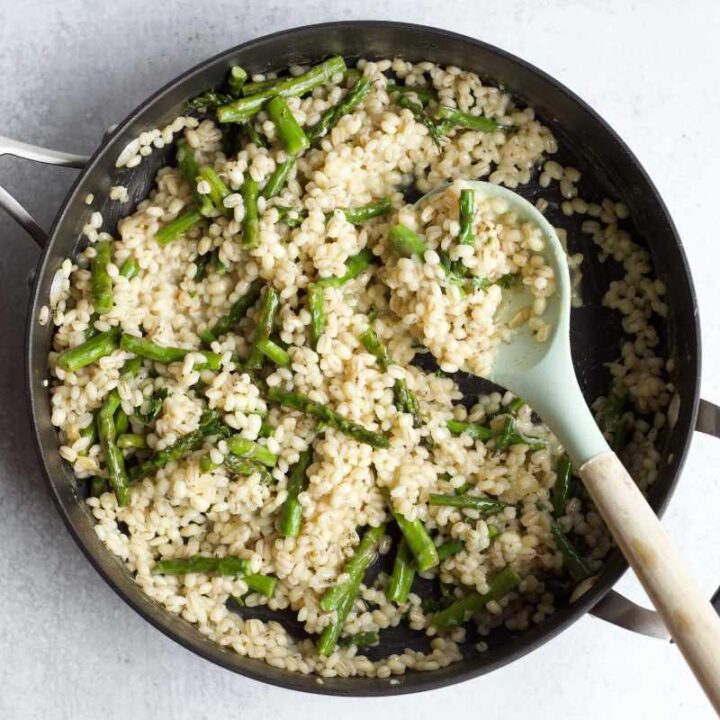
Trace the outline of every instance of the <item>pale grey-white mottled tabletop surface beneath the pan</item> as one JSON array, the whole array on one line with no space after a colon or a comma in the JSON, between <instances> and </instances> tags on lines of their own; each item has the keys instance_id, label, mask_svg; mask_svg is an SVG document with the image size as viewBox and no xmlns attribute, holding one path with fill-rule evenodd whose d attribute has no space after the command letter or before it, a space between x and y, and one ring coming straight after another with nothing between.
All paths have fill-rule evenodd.
<instances>
[{"instance_id":1,"label":"pale grey-white mottled tabletop surface beneath the pan","mask_svg":"<svg viewBox=\"0 0 720 720\"><path fill-rule=\"evenodd\" d=\"M720 7L695 0L627 3L464 0L452 14L426 0L332 4L0 0L0 132L89 152L103 130L178 72L225 47L291 25L332 19L411 20L476 35L537 64L603 114L655 179L684 238L702 309L703 395L720 402ZM4 158L0 182L47 225L73 172ZM679 182L680 181L680 182ZM712 717L677 650L585 618L490 676L422 696L347 701L265 687L210 666L146 625L66 533L34 458L22 343L32 243L0 217L0 717L275 718L320 714L419 718L482 708L551 718ZM703 589L720 580L715 467L720 442L698 436L667 524ZM643 601L631 577L620 588ZM522 691L519 689L522 688Z\"/></svg>"}]
</instances>

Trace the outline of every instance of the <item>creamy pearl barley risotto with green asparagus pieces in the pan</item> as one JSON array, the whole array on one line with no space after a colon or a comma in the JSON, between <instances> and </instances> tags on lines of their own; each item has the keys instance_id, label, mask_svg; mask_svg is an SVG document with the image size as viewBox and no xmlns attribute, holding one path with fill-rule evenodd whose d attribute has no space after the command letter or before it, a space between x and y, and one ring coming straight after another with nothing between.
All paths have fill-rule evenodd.
<instances>
[{"instance_id":1,"label":"creamy pearl barley risotto with green asparagus pieces in the pan","mask_svg":"<svg viewBox=\"0 0 720 720\"><path fill-rule=\"evenodd\" d=\"M90 214L41 314L60 453L110 552L221 645L324 677L434 670L579 597L611 543L563 449L520 398L449 374L486 372L516 325L547 340L555 289L538 228L463 180L557 184L621 265L595 410L645 487L673 388L625 207L582 200L532 109L455 67L236 67L188 112L125 148L118 167L176 161L112 234ZM383 653L401 624L420 642Z\"/></svg>"}]
</instances>

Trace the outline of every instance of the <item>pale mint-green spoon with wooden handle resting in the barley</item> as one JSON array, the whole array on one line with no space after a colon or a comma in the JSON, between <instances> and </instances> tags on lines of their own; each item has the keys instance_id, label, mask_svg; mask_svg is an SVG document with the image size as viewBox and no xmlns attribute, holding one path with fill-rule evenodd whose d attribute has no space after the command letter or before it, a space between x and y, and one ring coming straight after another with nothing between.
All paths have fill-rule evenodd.
<instances>
[{"instance_id":1,"label":"pale mint-green spoon with wooden handle resting in the barley","mask_svg":"<svg viewBox=\"0 0 720 720\"><path fill-rule=\"evenodd\" d=\"M447 186L435 188L416 205ZM623 555L720 713L720 618L610 449L577 382L570 351L571 286L566 252L552 225L517 193L481 181L463 181L463 187L475 190L478 197L504 200L520 221L539 227L545 240L542 255L555 273L556 292L547 298L543 316L551 325L547 341L538 342L527 324L514 329L510 341L497 348L485 379L522 397L567 450ZM522 287L505 290L498 318L512 317L529 302L531 296Z\"/></svg>"}]
</instances>

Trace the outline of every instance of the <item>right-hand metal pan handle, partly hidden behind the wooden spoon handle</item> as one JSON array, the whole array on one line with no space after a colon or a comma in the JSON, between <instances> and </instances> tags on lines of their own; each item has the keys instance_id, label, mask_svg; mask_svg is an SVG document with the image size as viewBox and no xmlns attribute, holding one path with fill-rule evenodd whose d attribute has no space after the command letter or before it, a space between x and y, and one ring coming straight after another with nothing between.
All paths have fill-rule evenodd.
<instances>
[{"instance_id":1,"label":"right-hand metal pan handle, partly hidden behind the wooden spoon handle","mask_svg":"<svg viewBox=\"0 0 720 720\"><path fill-rule=\"evenodd\" d=\"M720 438L720 407L707 400L700 400L695 430ZM710 603L720 614L720 588L712 596ZM628 600L615 590L605 595L590 613L626 630L661 640L671 640L670 633L658 613Z\"/></svg>"}]
</instances>

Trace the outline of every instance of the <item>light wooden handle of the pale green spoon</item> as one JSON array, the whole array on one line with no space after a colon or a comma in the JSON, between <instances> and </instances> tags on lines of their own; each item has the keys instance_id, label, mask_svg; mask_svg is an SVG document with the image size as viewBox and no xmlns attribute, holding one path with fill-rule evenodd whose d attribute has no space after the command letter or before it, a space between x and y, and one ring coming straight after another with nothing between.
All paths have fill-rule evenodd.
<instances>
[{"instance_id":1,"label":"light wooden handle of the pale green spoon","mask_svg":"<svg viewBox=\"0 0 720 720\"><path fill-rule=\"evenodd\" d=\"M580 477L720 714L720 618L617 455L606 452L588 460Z\"/></svg>"}]
</instances>

